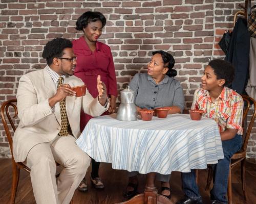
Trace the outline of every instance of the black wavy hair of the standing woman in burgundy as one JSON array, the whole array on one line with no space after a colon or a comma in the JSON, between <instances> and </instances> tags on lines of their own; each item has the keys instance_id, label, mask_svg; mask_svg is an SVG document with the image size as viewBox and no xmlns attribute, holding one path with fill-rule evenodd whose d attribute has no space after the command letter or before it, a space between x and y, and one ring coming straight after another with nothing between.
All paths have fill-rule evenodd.
<instances>
[{"instance_id":1,"label":"black wavy hair of the standing woman in burgundy","mask_svg":"<svg viewBox=\"0 0 256 204\"><path fill-rule=\"evenodd\" d=\"M97 20L100 20L102 23L102 28L106 24L106 18L105 16L97 11L87 11L83 13L76 21L76 30L77 31L82 31L83 28L86 28L87 25L90 22L95 22Z\"/></svg>"}]
</instances>

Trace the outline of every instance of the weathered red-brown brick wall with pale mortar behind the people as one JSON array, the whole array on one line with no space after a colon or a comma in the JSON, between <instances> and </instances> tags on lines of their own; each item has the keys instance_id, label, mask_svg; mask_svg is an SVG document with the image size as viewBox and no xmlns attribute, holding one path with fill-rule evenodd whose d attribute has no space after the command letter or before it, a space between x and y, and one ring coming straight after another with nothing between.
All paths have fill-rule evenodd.
<instances>
[{"instance_id":1,"label":"weathered red-brown brick wall with pale mortar behind the people","mask_svg":"<svg viewBox=\"0 0 256 204\"><path fill-rule=\"evenodd\" d=\"M255 1L254 1L255 2ZM42 48L52 38L76 39L76 19L85 11L100 11L108 19L100 41L114 56L118 89L145 68L152 50L174 55L177 79L184 89L186 107L200 85L204 66L224 57L217 45L233 27L233 14L244 1L40 1L2 0L0 3L0 101L13 98L18 80L28 71L41 69ZM256 157L256 126L248 144L248 156ZM0 157L10 157L0 124Z\"/></svg>"}]
</instances>

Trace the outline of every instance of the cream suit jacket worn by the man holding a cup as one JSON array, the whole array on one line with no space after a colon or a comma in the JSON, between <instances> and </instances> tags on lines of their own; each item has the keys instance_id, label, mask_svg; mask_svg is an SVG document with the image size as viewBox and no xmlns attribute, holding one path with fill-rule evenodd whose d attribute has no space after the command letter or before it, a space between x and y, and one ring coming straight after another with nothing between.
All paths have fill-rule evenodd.
<instances>
[{"instance_id":1,"label":"cream suit jacket worn by the man holding a cup","mask_svg":"<svg viewBox=\"0 0 256 204\"><path fill-rule=\"evenodd\" d=\"M83 85L83 82L72 75L66 77L63 84L74 87ZM36 144L50 142L58 135L61 127L59 103L53 111L48 101L55 93L56 84L46 68L20 78L16 95L20 122L13 138L13 156L16 162L25 161L29 150ZM99 116L108 107L109 100L104 108L88 90L82 97L66 97L66 110L73 136L80 136L81 109L91 116Z\"/></svg>"}]
</instances>

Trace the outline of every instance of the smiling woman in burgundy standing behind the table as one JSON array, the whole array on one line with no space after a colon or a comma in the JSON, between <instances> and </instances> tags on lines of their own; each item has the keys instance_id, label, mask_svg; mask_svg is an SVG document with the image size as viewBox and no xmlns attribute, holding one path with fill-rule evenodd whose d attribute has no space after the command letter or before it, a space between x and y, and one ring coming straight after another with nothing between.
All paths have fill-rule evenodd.
<instances>
[{"instance_id":1,"label":"smiling woman in burgundy standing behind the table","mask_svg":"<svg viewBox=\"0 0 256 204\"><path fill-rule=\"evenodd\" d=\"M83 13L76 21L76 30L83 31L83 36L72 43L74 53L77 56L74 75L87 85L87 89L93 97L98 95L98 91L95 88L97 87L97 75L101 76L101 81L105 83L110 97L110 108L108 112L103 114L110 114L116 110L117 84L111 49L108 45L98 41L105 24L106 19L102 13L92 11ZM81 131L91 118L92 116L81 112ZM102 189L104 185L98 175L98 171L99 162L92 159L91 181L95 188ZM78 190L88 190L85 178L80 183Z\"/></svg>"}]
</instances>

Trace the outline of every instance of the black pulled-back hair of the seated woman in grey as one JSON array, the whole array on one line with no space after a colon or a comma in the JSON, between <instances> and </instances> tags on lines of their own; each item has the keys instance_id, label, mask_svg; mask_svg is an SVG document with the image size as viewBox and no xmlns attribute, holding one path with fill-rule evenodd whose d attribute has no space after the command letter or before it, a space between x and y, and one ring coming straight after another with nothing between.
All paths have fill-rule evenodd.
<instances>
[{"instance_id":1,"label":"black pulled-back hair of the seated woman in grey","mask_svg":"<svg viewBox=\"0 0 256 204\"><path fill-rule=\"evenodd\" d=\"M166 53L163 50L157 50L157 51L153 52L152 54L153 55L161 54L163 63L164 63L164 67L168 68L166 75L168 75L169 77L175 77L177 75L177 71L172 69L174 67L175 60L171 54Z\"/></svg>"}]
</instances>

